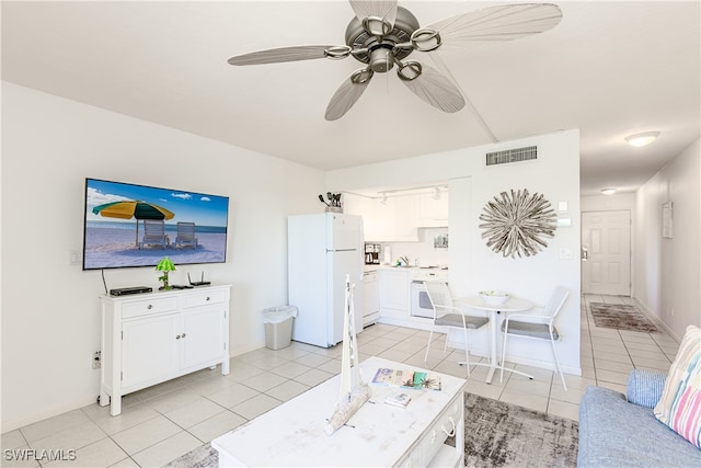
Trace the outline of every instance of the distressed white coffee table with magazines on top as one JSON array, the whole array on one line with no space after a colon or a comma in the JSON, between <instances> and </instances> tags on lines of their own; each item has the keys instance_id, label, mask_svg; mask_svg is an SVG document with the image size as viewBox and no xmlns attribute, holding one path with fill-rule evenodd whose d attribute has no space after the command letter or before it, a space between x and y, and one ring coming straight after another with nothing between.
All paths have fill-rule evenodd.
<instances>
[{"instance_id":1,"label":"distressed white coffee table with magazines on top","mask_svg":"<svg viewBox=\"0 0 701 468\"><path fill-rule=\"evenodd\" d=\"M360 363L370 381L379 367L425 370L370 357ZM406 408L386 404L398 387L370 384L372 397L345 426L326 435L324 427L338 399L341 376L311 388L211 442L220 467L394 467L464 465L464 384L438 374L443 389L403 390ZM456 447L444 444L448 434Z\"/></svg>"}]
</instances>

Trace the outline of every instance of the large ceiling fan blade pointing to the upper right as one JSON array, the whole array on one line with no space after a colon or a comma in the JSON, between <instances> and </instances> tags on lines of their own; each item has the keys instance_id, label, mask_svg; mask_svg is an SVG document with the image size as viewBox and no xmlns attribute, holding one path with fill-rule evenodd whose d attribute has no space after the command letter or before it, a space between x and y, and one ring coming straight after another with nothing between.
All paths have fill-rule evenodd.
<instances>
[{"instance_id":1,"label":"large ceiling fan blade pointing to the upper right","mask_svg":"<svg viewBox=\"0 0 701 468\"><path fill-rule=\"evenodd\" d=\"M447 18L426 28L438 31L444 45L471 47L542 33L561 20L555 4L505 4Z\"/></svg>"}]
</instances>

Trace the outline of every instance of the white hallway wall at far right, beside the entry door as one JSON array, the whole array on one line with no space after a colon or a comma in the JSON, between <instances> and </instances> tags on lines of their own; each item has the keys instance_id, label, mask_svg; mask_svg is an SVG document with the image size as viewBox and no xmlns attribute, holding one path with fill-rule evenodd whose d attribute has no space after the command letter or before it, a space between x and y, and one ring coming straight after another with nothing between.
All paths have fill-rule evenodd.
<instances>
[{"instance_id":1,"label":"white hallway wall at far right, beside the entry door","mask_svg":"<svg viewBox=\"0 0 701 468\"><path fill-rule=\"evenodd\" d=\"M687 326L701 326L699 141L647 181L636 195L635 297L678 339ZM674 204L673 239L662 237L662 205L666 202Z\"/></svg>"}]
</instances>

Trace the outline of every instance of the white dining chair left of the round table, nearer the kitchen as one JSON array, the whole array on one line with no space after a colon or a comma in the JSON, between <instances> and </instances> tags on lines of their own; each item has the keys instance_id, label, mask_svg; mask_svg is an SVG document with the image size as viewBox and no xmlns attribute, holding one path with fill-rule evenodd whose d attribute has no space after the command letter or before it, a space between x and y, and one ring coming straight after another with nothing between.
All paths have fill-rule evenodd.
<instances>
[{"instance_id":1,"label":"white dining chair left of the round table, nearer the kitchen","mask_svg":"<svg viewBox=\"0 0 701 468\"><path fill-rule=\"evenodd\" d=\"M426 355L424 362L428 361L428 351L430 350L430 342L434 335L434 329L436 327L451 327L462 329L462 335L464 339L464 365L468 368L468 377L470 377L470 350L468 346L468 329L479 329L490 322L486 317L469 316L464 313L464 310L456 305L448 288L448 284L444 282L424 282L426 286L426 293L428 299L434 308L434 318L430 323L430 332L428 333L428 344L426 345ZM448 340L446 336L446 344L444 352L448 347ZM475 363L474 365L483 365Z\"/></svg>"}]
</instances>

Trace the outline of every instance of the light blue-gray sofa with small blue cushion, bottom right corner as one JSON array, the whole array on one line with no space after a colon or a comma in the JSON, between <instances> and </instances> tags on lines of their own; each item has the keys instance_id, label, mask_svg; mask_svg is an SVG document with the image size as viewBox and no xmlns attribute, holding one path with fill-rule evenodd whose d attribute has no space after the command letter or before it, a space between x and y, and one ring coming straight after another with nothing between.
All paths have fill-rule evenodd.
<instances>
[{"instance_id":1,"label":"light blue-gray sofa with small blue cushion, bottom right corner","mask_svg":"<svg viewBox=\"0 0 701 468\"><path fill-rule=\"evenodd\" d=\"M577 467L701 467L701 450L659 422L665 375L633 370L628 398L586 388L579 403Z\"/></svg>"}]
</instances>

